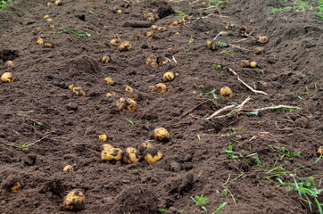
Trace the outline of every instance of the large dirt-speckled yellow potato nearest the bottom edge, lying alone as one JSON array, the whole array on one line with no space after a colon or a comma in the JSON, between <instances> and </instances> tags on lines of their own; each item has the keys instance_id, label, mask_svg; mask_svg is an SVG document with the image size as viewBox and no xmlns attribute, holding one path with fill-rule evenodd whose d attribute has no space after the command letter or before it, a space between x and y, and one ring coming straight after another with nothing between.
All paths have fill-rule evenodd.
<instances>
[{"instance_id":1,"label":"large dirt-speckled yellow potato nearest the bottom edge, lying alone","mask_svg":"<svg viewBox=\"0 0 323 214\"><path fill-rule=\"evenodd\" d=\"M84 210L86 205L86 196L81 190L72 190L68 193L63 202L64 210L77 211Z\"/></svg>"}]
</instances>

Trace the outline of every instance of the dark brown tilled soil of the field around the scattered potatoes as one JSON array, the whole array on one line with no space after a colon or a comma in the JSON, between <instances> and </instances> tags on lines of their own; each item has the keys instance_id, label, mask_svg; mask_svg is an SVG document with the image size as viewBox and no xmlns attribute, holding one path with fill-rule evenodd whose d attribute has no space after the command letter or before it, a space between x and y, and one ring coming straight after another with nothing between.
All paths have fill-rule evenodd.
<instances>
[{"instance_id":1,"label":"dark brown tilled soil of the field around the scattered potatoes","mask_svg":"<svg viewBox=\"0 0 323 214\"><path fill-rule=\"evenodd\" d=\"M0 83L1 213L64 213L63 198L73 189L83 190L87 197L85 210L79 213L151 214L158 208L169 210L166 213L203 213L190 198L201 194L209 197L210 213L222 202L228 205L219 213L319 213L315 205L312 211L302 205L298 193L279 186L275 177L266 178L269 169L277 166L286 169L286 175L280 176L286 183L294 182L292 173L296 179L323 174L322 161L315 162L323 136L323 28L313 12L273 14L269 7L279 7L277 0L230 0L220 13L193 0L62 2L57 7L42 0L14 1L0 12L0 73L10 70L16 79ZM153 9L161 19L145 21L143 11ZM173 14L178 10L191 19L170 26L170 21L179 20ZM53 19L55 29L48 28L45 15ZM167 31L145 37L152 24ZM206 40L230 24L236 28L217 37L230 45L209 50ZM242 25L251 37L241 35ZM88 32L91 37L57 33L62 28ZM110 45L116 35L128 40L132 50L120 52ZM258 43L259 36L268 36L269 42ZM39 37L54 47L37 45ZM190 38L194 40L187 42ZM254 54L258 46L265 53ZM228 55L229 50L235 55ZM152 68L144 53L157 62L164 57L170 62ZM107 64L101 62L105 54L111 58ZM7 60L14 62L13 68L4 68ZM259 67L242 68L242 60L256 61ZM216 70L213 64L224 68ZM254 94L228 68L268 95ZM168 91L149 90L162 82L166 71L179 74L166 83ZM104 85L106 77L116 84ZM68 89L72 84L81 86L86 96L72 94ZM126 85L134 92L124 91ZM200 95L214 88L219 95L222 86L229 86L234 96L213 103ZM107 97L109 92L117 95ZM239 113L204 119L249 95L251 100ZM135 100L138 110L119 111L120 97ZM279 104L302 110L244 114ZM153 142L153 129L158 127L170 131L169 142ZM103 162L97 137L103 133L109 144L121 149L151 140L163 158L151 165ZM15 147L24 143L35 144ZM228 144L244 158L228 159L223 150ZM301 155L280 159L282 155L269 145ZM247 157L254 153L267 165L265 169L254 163L253 156ZM73 165L74 173L62 172L66 165ZM226 181L236 204L223 191ZM17 183L21 191L11 193Z\"/></svg>"}]
</instances>

